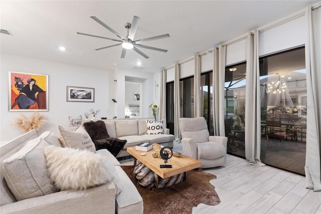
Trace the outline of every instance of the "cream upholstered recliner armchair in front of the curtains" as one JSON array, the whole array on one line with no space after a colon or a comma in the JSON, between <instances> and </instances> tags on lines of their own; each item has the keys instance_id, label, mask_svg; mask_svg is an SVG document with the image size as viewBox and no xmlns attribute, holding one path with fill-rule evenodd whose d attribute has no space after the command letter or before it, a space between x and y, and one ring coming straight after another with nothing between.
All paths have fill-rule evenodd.
<instances>
[{"instance_id":1,"label":"cream upholstered recliner armchair in front of the curtains","mask_svg":"<svg viewBox=\"0 0 321 214\"><path fill-rule=\"evenodd\" d=\"M183 153L201 161L200 168L226 164L227 137L210 136L207 123L201 118L181 118Z\"/></svg>"}]
</instances>

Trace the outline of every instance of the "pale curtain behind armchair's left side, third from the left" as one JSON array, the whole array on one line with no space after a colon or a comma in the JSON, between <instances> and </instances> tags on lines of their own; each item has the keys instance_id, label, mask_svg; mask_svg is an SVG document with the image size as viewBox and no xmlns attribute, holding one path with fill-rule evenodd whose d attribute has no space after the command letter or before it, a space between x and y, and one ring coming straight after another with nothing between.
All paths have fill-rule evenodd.
<instances>
[{"instance_id":1,"label":"pale curtain behind armchair's left side, third from the left","mask_svg":"<svg viewBox=\"0 0 321 214\"><path fill-rule=\"evenodd\" d=\"M201 56L195 55L194 71L194 117L201 117Z\"/></svg>"}]
</instances>

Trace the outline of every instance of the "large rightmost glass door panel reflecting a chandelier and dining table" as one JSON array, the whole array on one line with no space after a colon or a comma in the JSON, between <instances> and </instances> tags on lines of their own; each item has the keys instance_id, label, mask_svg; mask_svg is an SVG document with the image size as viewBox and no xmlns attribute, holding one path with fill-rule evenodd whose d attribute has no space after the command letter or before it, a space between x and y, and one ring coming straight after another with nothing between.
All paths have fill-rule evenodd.
<instances>
[{"instance_id":1,"label":"large rightmost glass door panel reflecting a chandelier and dining table","mask_svg":"<svg viewBox=\"0 0 321 214\"><path fill-rule=\"evenodd\" d=\"M260 58L261 161L304 175L306 73L304 47Z\"/></svg>"}]
</instances>

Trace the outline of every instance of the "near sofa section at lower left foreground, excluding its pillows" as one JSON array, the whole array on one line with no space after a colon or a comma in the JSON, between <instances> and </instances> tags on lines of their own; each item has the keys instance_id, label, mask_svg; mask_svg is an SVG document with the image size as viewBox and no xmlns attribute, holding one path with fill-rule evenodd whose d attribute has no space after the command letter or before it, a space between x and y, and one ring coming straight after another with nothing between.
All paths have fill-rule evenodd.
<instances>
[{"instance_id":1,"label":"near sofa section at lower left foreground, excluding its pillows","mask_svg":"<svg viewBox=\"0 0 321 214\"><path fill-rule=\"evenodd\" d=\"M107 122L108 127L115 122ZM110 129L111 130L111 129ZM112 131L110 131L112 132ZM43 133L44 134L44 133ZM115 135L116 136L116 135ZM143 213L143 201L135 185L120 167L118 160L106 149L98 150L115 167L118 173L119 182L122 185L122 191L116 195L115 186L112 182L90 187L85 190L64 190L45 194L42 196L31 197L17 201L11 188L9 188L4 178L3 162L24 147L26 142L37 138L37 132L32 130L6 144L0 148L0 213ZM52 142L59 142L58 137L50 132ZM57 143L55 143L55 146ZM31 158L32 159L32 158ZM8 160L8 159L7 159ZM30 160L30 157L29 157ZM39 162L40 160L31 160ZM28 165L29 163L27 163ZM33 163L35 164L35 163ZM17 176L20 176L17 172ZM23 176L23 174L21 174ZM30 179L36 180L33 175ZM37 183L37 182L34 182ZM29 187L29 185L26 185Z\"/></svg>"}]
</instances>

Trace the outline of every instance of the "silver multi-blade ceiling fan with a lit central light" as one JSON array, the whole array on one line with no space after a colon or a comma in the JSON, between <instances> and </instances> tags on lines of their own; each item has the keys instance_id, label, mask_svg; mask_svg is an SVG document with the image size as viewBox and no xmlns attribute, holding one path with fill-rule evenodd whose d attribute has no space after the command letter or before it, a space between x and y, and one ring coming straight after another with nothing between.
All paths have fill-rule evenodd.
<instances>
[{"instance_id":1,"label":"silver multi-blade ceiling fan with a lit central light","mask_svg":"<svg viewBox=\"0 0 321 214\"><path fill-rule=\"evenodd\" d=\"M159 35L159 36L148 37L148 38L145 38L145 39L134 40L134 36L135 36L136 30L137 30L137 27L138 27L138 22L140 20L139 17L134 16L134 18L132 19L132 23L131 24L130 23L125 23L125 28L127 29L127 36L126 37L121 36L119 33L114 31L112 28L110 28L108 25L103 23L97 17L91 16L90 18L95 20L96 22L98 22L100 25L102 25L107 30L109 30L111 33L115 34L119 39L112 39L112 38L96 36L96 35L91 35L91 34L84 34L84 33L79 33L79 32L77 32L77 34L120 42L120 43L117 43L117 44L113 44L113 45L109 45L109 46L105 46L105 47L101 47L101 48L95 49L97 51L121 45L122 46L122 52L121 52L121 57L120 58L125 58L125 54L126 54L126 50L127 49L133 49L134 51L136 51L138 54L140 54L141 56L145 57L146 59L148 59L149 57L146 54L144 54L143 52L141 52L140 50L138 50L137 47L146 48L146 49L150 49L150 50L154 50L154 51L162 51L162 52L167 52L168 51L168 50L161 49L161 48L155 48L155 47L150 47L150 46L146 46L146 45L141 45L140 43L151 41L151 40L156 40L156 39L167 38L167 37L170 37L169 34L163 34L163 35Z\"/></svg>"}]
</instances>

